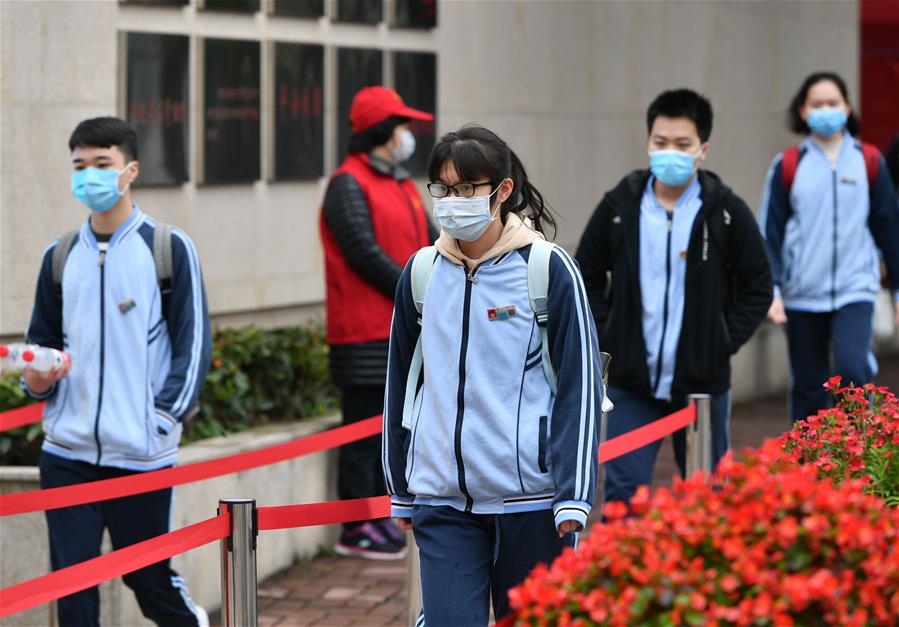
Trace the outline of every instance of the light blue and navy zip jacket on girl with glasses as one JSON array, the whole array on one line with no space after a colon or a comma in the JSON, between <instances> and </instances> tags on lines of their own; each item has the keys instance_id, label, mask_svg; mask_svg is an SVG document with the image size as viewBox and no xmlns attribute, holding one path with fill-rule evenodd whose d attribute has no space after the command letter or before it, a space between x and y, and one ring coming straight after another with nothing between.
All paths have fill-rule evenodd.
<instances>
[{"instance_id":1,"label":"light blue and navy zip jacket on girl with glasses","mask_svg":"<svg viewBox=\"0 0 899 627\"><path fill-rule=\"evenodd\" d=\"M530 246L467 270L439 255L421 326L411 261L396 292L384 403L383 465L393 515L446 505L476 514L552 509L586 526L596 490L602 404L599 347L575 261L549 272L553 397L528 301ZM494 315L491 311L505 312ZM423 383L402 426L409 365L422 334Z\"/></svg>"}]
</instances>

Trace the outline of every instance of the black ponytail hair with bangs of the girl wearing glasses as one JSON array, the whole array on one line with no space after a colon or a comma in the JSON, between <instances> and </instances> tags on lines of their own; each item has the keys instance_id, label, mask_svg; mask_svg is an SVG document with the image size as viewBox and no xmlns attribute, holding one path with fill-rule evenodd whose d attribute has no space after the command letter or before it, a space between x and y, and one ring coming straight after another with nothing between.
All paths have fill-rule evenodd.
<instances>
[{"instance_id":1,"label":"black ponytail hair with bangs of the girl wearing glasses","mask_svg":"<svg viewBox=\"0 0 899 627\"><path fill-rule=\"evenodd\" d=\"M510 213L528 216L534 228L545 233L544 226L556 233L556 221L549 205L528 180L524 165L508 144L496 133L483 126L468 124L458 131L440 138L428 162L428 178L435 182L443 166L452 162L460 181L488 179L495 189L505 179L512 179L512 195L500 207L500 219L505 222Z\"/></svg>"}]
</instances>

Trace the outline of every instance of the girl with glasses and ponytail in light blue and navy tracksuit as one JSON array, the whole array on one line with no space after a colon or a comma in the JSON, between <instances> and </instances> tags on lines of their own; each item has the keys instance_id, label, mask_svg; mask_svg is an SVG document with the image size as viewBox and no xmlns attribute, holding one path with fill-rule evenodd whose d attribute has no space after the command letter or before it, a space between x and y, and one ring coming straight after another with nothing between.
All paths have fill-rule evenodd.
<instances>
[{"instance_id":1,"label":"girl with glasses and ponytail in light blue and navy tracksuit","mask_svg":"<svg viewBox=\"0 0 899 627\"><path fill-rule=\"evenodd\" d=\"M420 549L424 621L483 626L491 597L497 619L508 614L509 588L587 523L599 347L577 266L542 242L553 218L502 139L478 126L444 135L428 177L442 232L436 251L416 255L430 266L421 315L415 258L397 286L384 472L393 515ZM550 246L541 320L528 260Z\"/></svg>"}]
</instances>

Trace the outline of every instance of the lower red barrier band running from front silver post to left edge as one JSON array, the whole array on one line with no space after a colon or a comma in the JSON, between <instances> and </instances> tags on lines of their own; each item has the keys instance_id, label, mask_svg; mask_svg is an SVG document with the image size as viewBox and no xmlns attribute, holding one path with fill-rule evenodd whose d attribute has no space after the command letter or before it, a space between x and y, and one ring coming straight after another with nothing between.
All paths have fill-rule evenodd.
<instances>
[{"instance_id":1,"label":"lower red barrier band running from front silver post to left edge","mask_svg":"<svg viewBox=\"0 0 899 627\"><path fill-rule=\"evenodd\" d=\"M231 532L230 522L229 514L220 514L49 575L3 588L0 590L0 618L92 588L179 553L226 538Z\"/></svg>"}]
</instances>

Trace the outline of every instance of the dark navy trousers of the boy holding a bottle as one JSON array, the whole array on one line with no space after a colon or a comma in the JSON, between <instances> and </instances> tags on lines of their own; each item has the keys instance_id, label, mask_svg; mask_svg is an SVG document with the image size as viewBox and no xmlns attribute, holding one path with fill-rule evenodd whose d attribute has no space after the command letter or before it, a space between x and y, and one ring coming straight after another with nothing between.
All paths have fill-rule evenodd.
<instances>
[{"instance_id":1,"label":"dark navy trousers of the boy holding a bottle","mask_svg":"<svg viewBox=\"0 0 899 627\"><path fill-rule=\"evenodd\" d=\"M76 483L135 474L121 468L96 466L41 453L41 487L59 488ZM103 530L109 530L113 549L168 533L172 489L135 494L99 503L49 510L50 562L53 570L100 555ZM194 604L184 580L158 562L122 577L134 591L144 616L166 627L197 627ZM98 627L100 593L97 587L76 592L57 602L61 627Z\"/></svg>"}]
</instances>

